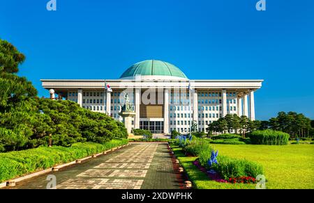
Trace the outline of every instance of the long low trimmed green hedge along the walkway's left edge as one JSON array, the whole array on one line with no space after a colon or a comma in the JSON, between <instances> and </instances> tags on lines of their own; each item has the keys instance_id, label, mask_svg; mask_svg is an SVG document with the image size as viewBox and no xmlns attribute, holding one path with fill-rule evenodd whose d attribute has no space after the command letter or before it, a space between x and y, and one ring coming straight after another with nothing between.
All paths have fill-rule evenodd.
<instances>
[{"instance_id":1,"label":"long low trimmed green hedge along the walkway's left edge","mask_svg":"<svg viewBox=\"0 0 314 203\"><path fill-rule=\"evenodd\" d=\"M71 147L38 147L18 152L0 153L0 183L54 165L82 159L114 147L126 145L127 139L111 140L104 144L75 143Z\"/></svg>"}]
</instances>

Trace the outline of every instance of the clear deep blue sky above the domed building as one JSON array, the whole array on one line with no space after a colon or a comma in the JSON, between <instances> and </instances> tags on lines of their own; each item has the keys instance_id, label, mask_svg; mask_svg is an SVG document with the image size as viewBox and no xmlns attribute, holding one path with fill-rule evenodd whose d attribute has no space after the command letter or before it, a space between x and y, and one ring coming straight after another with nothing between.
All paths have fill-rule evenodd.
<instances>
[{"instance_id":1,"label":"clear deep blue sky above the domed building","mask_svg":"<svg viewBox=\"0 0 314 203\"><path fill-rule=\"evenodd\" d=\"M133 63L159 59L190 79L264 79L257 119L278 111L314 118L314 1L0 0L0 38L40 79L117 79Z\"/></svg>"}]
</instances>

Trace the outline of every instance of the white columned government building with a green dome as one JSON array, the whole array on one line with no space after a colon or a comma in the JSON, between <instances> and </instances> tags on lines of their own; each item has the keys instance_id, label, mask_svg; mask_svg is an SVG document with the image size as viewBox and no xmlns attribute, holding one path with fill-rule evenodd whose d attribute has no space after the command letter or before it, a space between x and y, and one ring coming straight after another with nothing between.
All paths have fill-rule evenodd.
<instances>
[{"instance_id":1,"label":"white columned government building with a green dome","mask_svg":"<svg viewBox=\"0 0 314 203\"><path fill-rule=\"evenodd\" d=\"M77 102L115 120L128 98L135 116L133 129L152 133L188 133L192 122L199 131L227 114L255 120L254 92L263 80L193 80L178 67L160 60L144 60L119 79L41 79L51 98ZM126 96L127 95L127 96Z\"/></svg>"}]
</instances>

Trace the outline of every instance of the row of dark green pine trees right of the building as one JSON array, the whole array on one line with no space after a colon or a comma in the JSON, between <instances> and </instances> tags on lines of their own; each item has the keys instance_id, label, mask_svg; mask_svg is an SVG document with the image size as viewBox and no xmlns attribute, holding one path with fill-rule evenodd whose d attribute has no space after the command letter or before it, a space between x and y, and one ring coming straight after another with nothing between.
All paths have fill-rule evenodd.
<instances>
[{"instance_id":1,"label":"row of dark green pine trees right of the building","mask_svg":"<svg viewBox=\"0 0 314 203\"><path fill-rule=\"evenodd\" d=\"M237 114L228 114L209 124L207 131L209 135L217 133L246 133L255 130L272 129L283 131L290 135L290 138L306 138L314 136L314 122L302 113L279 112L277 117L272 117L269 121L252 121L245 115L239 117Z\"/></svg>"}]
</instances>

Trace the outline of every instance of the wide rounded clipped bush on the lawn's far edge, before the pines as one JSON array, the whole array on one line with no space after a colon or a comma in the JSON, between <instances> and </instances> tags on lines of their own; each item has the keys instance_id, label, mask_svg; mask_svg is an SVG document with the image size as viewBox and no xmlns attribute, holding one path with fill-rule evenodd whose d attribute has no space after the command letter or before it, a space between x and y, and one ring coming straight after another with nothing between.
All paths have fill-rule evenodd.
<instances>
[{"instance_id":1,"label":"wide rounded clipped bush on the lawn's far edge, before the pines","mask_svg":"<svg viewBox=\"0 0 314 203\"><path fill-rule=\"evenodd\" d=\"M270 129L264 131L253 131L249 137L253 145L287 145L289 134Z\"/></svg>"}]
</instances>

